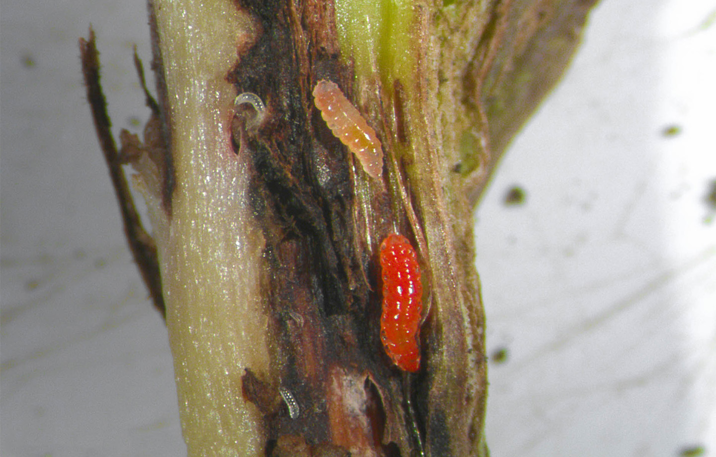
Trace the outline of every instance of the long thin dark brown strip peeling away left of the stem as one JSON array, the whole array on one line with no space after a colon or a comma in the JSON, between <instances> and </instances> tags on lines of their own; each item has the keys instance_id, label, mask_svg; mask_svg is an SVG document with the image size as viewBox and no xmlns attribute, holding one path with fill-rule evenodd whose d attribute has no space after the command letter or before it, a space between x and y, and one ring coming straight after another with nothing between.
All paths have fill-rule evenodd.
<instances>
[{"instance_id":1,"label":"long thin dark brown strip peeling away left of the stem","mask_svg":"<svg viewBox=\"0 0 716 457\"><path fill-rule=\"evenodd\" d=\"M135 54L136 57L136 54ZM79 58L82 60L82 75L84 85L87 87L87 101L92 110L92 119L95 121L97 138L100 140L100 147L105 154L105 162L110 170L112 186L115 188L117 202L120 204L120 213L125 227L125 237L130 245L132 256L137 262L137 267L142 274L144 284L149 290L154 306L165 317L164 297L162 294L162 279L157 259L157 246L154 239L147 234L139 213L134 205L132 193L125 172L122 169L120 154L117 152L115 139L112 137L110 117L107 115L107 102L102 93L100 85L100 53L97 52L95 44L95 31L89 29L89 38L79 39ZM135 62L137 62L135 60ZM141 67L141 63L137 63ZM140 72L142 86L144 87L144 74ZM145 87L146 88L146 87ZM147 92L147 104L150 104L151 97Z\"/></svg>"}]
</instances>

